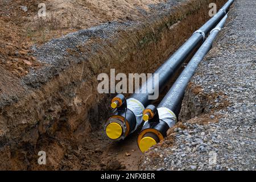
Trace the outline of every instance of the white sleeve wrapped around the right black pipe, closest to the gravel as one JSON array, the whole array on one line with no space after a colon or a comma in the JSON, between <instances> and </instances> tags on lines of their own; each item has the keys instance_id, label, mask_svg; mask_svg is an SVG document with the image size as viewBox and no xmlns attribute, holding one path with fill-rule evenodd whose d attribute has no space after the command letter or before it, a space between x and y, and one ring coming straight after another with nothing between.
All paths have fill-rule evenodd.
<instances>
[{"instance_id":1,"label":"white sleeve wrapped around the right black pipe, closest to the gravel","mask_svg":"<svg viewBox=\"0 0 256 182\"><path fill-rule=\"evenodd\" d=\"M170 128L173 127L177 122L177 117L174 112L172 112L170 109L167 109L166 107L158 108L158 114L159 119L166 122Z\"/></svg>"}]
</instances>

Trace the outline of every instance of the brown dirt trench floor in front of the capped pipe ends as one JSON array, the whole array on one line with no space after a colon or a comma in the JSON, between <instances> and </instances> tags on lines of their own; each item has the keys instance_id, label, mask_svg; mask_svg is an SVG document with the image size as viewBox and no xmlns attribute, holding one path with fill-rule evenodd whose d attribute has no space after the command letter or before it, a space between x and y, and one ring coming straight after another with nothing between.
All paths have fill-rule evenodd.
<instances>
[{"instance_id":1,"label":"brown dirt trench floor in front of the capped pipe ends","mask_svg":"<svg viewBox=\"0 0 256 182\"><path fill-rule=\"evenodd\" d=\"M96 131L88 135L84 143L69 147L59 169L138 170L142 152L136 138L133 134L123 141L112 142L104 131Z\"/></svg>"}]
</instances>

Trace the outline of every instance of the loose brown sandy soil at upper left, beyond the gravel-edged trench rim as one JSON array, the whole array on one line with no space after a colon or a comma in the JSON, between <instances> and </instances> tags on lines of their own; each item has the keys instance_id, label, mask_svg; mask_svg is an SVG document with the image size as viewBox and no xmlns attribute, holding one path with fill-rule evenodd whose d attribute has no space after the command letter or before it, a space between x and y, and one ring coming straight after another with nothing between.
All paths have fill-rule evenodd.
<instances>
[{"instance_id":1,"label":"loose brown sandy soil at upper left, beyond the gravel-edged trench rim","mask_svg":"<svg viewBox=\"0 0 256 182\"><path fill-rule=\"evenodd\" d=\"M32 44L42 44L83 28L117 20L135 20L150 12L148 5L165 0L54 0L45 1L46 18L38 18L40 1L0 2L0 67L12 76L24 76L39 67L30 56ZM21 6L26 6L27 11ZM152 12L151 12L152 13Z\"/></svg>"}]
</instances>

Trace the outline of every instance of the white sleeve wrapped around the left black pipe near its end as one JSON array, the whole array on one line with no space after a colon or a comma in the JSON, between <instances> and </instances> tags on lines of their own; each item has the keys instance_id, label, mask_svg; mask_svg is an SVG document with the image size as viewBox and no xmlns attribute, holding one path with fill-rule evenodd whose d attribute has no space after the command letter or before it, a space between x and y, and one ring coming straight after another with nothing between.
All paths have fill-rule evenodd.
<instances>
[{"instance_id":1,"label":"white sleeve wrapped around the left black pipe near its end","mask_svg":"<svg viewBox=\"0 0 256 182\"><path fill-rule=\"evenodd\" d=\"M133 111L135 117L136 117L136 126L135 129L133 131L135 131L137 129L138 126L141 125L142 123L142 116L143 116L143 110L145 109L143 104L141 102L139 102L138 100L135 100L134 98L129 98L127 99L127 109L130 109L131 111ZM131 133L133 133L133 131L131 131Z\"/></svg>"}]
</instances>

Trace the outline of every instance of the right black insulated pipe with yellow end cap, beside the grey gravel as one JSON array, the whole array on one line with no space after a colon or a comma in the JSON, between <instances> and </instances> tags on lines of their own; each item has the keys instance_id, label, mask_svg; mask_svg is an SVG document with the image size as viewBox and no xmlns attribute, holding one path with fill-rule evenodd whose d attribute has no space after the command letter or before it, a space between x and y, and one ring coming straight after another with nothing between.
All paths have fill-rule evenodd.
<instances>
[{"instance_id":1,"label":"right black insulated pipe with yellow end cap, beside the grey gravel","mask_svg":"<svg viewBox=\"0 0 256 182\"><path fill-rule=\"evenodd\" d=\"M187 87L192 76L195 74L196 68L200 61L204 59L204 56L207 55L212 47L218 32L222 27L224 27L226 18L227 15L225 15L221 22L218 23L217 26L210 32L207 40L205 40L203 45L192 57L191 61L189 61L187 67L185 67L183 72L181 72L174 85L172 85L169 92L158 105L158 114L155 114L156 118L149 119L144 123L142 131L137 139L138 146L142 152L148 150L148 148L157 143L157 141L154 139L155 137L158 137L158 140L166 137L168 129L174 126L177 122L176 115L179 113L175 113L175 111L178 109L181 101L183 100L185 88ZM152 105L148 106L147 108L152 108ZM151 133L151 136L152 133L155 133L154 138L148 137L147 133Z\"/></svg>"}]
</instances>

